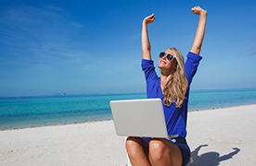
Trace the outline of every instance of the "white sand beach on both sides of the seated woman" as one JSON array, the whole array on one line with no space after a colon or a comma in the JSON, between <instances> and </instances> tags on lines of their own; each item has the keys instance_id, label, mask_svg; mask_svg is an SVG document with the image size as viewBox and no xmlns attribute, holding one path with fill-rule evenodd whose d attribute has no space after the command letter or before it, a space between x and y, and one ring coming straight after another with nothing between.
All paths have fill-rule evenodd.
<instances>
[{"instance_id":1,"label":"white sand beach on both sides of the seated woman","mask_svg":"<svg viewBox=\"0 0 256 166\"><path fill-rule=\"evenodd\" d=\"M191 166L256 164L256 104L188 113ZM113 121L0 131L0 165L126 165Z\"/></svg>"}]
</instances>

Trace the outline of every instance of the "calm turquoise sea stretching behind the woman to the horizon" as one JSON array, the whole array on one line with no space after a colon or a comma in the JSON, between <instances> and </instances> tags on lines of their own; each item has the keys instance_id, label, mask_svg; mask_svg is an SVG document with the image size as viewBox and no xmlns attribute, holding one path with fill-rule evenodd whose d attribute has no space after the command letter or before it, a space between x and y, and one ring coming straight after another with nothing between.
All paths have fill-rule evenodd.
<instances>
[{"instance_id":1,"label":"calm turquoise sea stretching behind the woman to the horizon","mask_svg":"<svg viewBox=\"0 0 256 166\"><path fill-rule=\"evenodd\" d=\"M109 101L146 99L146 93L0 98L0 130L111 120ZM256 89L191 90L188 111L256 103Z\"/></svg>"}]
</instances>

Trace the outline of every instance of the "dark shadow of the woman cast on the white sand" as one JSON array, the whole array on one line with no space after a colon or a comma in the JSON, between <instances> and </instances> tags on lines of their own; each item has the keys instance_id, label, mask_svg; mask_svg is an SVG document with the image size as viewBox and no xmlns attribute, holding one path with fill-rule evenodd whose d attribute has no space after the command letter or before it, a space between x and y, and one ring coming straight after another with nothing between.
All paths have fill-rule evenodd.
<instances>
[{"instance_id":1,"label":"dark shadow of the woman cast on the white sand","mask_svg":"<svg viewBox=\"0 0 256 166\"><path fill-rule=\"evenodd\" d=\"M220 154L218 152L207 152L200 156L198 156L198 151L202 147L207 147L208 145L201 145L198 148L196 148L194 151L191 152L191 156L193 158L193 162L190 163L190 166L215 166L219 165L221 161L223 160L230 160L233 156L235 156L240 149L239 148L233 148L235 151L230 152L224 156L220 157Z\"/></svg>"}]
</instances>

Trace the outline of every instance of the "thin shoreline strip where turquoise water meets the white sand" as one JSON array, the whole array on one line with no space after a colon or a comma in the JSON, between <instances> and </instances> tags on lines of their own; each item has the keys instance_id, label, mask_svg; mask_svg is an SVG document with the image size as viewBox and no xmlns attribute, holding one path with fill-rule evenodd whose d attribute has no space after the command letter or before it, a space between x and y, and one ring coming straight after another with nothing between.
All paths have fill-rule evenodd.
<instances>
[{"instance_id":1,"label":"thin shoreline strip where turquoise water meets the white sand","mask_svg":"<svg viewBox=\"0 0 256 166\"><path fill-rule=\"evenodd\" d=\"M221 110L221 109L228 109L228 108L236 108L236 107L243 107L243 106L250 106L250 105L256 105L256 103L245 104L245 105L229 106L229 107L216 107L216 108L203 109L203 110L193 110L193 111L188 111L187 113L206 112L206 111ZM45 126L76 125L76 124L87 124L87 123L96 123L96 122L105 122L105 121L113 121L113 119L98 120L98 121L85 121L85 122L77 122L77 123L75 122L75 123L57 124L57 125L38 125L38 126L28 126L28 127L16 127L16 128L11 128L11 129L0 129L0 132L1 131L8 131L8 130L22 130L22 129L26 129L26 128L39 128L39 127L45 127Z\"/></svg>"}]
</instances>

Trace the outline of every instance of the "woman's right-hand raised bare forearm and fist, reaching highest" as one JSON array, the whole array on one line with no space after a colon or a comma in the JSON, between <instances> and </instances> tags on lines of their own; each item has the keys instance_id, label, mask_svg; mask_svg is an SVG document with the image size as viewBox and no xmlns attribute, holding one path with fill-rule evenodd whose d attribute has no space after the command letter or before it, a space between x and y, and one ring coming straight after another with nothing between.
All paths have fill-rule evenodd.
<instances>
[{"instance_id":1,"label":"woman's right-hand raised bare forearm and fist, reaching highest","mask_svg":"<svg viewBox=\"0 0 256 166\"><path fill-rule=\"evenodd\" d=\"M191 11L193 11L194 15L199 15L199 22L198 30L196 32L196 36L190 52L199 54L201 51L202 41L205 33L207 11L202 9L200 6L195 6L191 8Z\"/></svg>"}]
</instances>

